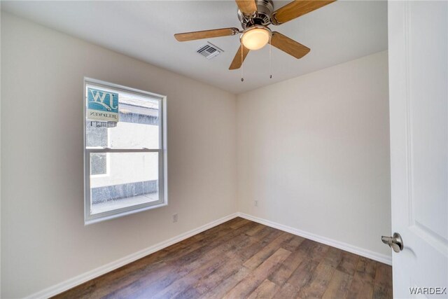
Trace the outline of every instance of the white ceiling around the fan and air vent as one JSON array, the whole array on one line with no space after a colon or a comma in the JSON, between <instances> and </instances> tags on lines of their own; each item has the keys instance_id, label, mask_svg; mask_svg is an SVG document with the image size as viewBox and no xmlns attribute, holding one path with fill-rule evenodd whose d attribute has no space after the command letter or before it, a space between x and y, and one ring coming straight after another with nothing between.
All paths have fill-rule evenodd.
<instances>
[{"instance_id":1,"label":"white ceiling around the fan and air vent","mask_svg":"<svg viewBox=\"0 0 448 299\"><path fill-rule=\"evenodd\" d=\"M274 1L274 9L288 1ZM245 92L387 49L386 1L337 1L273 31L311 48L300 60L269 47L229 71L238 36L180 43L173 34L240 27L235 1L1 1L1 9L158 67L228 90ZM207 60L195 51L210 41L223 49Z\"/></svg>"}]
</instances>

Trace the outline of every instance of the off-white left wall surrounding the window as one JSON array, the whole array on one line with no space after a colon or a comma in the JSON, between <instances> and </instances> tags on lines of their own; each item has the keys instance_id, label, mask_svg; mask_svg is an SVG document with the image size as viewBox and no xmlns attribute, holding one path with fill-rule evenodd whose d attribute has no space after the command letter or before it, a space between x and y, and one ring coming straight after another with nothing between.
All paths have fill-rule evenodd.
<instances>
[{"instance_id":1,"label":"off-white left wall surrounding the window","mask_svg":"<svg viewBox=\"0 0 448 299\"><path fill-rule=\"evenodd\" d=\"M236 211L235 95L6 13L1 39L1 298ZM84 76L167 95L168 207L83 225Z\"/></svg>"}]
</instances>

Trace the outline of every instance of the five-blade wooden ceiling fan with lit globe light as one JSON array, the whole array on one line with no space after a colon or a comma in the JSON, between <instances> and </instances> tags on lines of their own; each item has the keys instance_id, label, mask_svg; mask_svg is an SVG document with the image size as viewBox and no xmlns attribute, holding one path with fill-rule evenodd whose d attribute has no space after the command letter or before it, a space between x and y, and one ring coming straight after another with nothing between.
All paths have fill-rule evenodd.
<instances>
[{"instance_id":1,"label":"five-blade wooden ceiling fan with lit globe light","mask_svg":"<svg viewBox=\"0 0 448 299\"><path fill-rule=\"evenodd\" d=\"M272 0L235 0L238 6L238 18L243 30L235 27L211 29L198 32L186 32L174 34L178 41L194 41L197 39L209 39L219 36L232 36L241 34L239 37L241 46L233 58L229 69L239 69L246 59L250 50L263 48L267 43L299 59L309 53L309 48L297 43L293 39L279 32L272 32L269 25L281 25L285 22L315 11L336 0L295 0L286 4L276 11Z\"/></svg>"}]
</instances>

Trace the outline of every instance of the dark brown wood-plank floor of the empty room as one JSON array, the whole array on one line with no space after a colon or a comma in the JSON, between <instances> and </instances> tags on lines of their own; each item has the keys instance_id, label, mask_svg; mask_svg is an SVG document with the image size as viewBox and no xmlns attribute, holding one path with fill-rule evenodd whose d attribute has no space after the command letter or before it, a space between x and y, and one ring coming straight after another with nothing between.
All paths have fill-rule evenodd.
<instances>
[{"instance_id":1,"label":"dark brown wood-plank floor of the empty room","mask_svg":"<svg viewBox=\"0 0 448 299\"><path fill-rule=\"evenodd\" d=\"M392 298L391 266L235 218L55 298Z\"/></svg>"}]
</instances>

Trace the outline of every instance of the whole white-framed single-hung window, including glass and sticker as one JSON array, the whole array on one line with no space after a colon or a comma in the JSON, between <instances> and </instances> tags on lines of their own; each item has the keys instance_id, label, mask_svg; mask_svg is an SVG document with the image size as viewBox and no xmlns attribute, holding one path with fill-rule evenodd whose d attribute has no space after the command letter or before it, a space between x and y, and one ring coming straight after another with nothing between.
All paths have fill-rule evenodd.
<instances>
[{"instance_id":1,"label":"whole white-framed single-hung window, including glass and sticker","mask_svg":"<svg viewBox=\"0 0 448 299\"><path fill-rule=\"evenodd\" d=\"M167 204L166 98L85 78L85 224Z\"/></svg>"}]
</instances>

